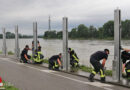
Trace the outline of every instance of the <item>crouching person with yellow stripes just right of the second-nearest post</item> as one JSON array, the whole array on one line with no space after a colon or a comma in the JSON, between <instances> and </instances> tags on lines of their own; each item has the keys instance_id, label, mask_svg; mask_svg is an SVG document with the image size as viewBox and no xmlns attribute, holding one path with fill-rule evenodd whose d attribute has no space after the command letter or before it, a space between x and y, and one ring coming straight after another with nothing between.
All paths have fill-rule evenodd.
<instances>
[{"instance_id":1,"label":"crouching person with yellow stripes just right of the second-nearest post","mask_svg":"<svg viewBox=\"0 0 130 90\"><path fill-rule=\"evenodd\" d=\"M79 63L79 58L77 54L72 48L69 48L69 53L70 53L70 65L72 67L77 67Z\"/></svg>"}]
</instances>

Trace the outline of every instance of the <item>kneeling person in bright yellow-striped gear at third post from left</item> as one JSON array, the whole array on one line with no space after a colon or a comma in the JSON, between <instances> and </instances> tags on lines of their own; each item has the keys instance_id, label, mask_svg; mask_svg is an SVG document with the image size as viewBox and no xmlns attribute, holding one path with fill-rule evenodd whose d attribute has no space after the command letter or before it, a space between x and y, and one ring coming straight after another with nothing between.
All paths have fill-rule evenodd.
<instances>
[{"instance_id":1,"label":"kneeling person in bright yellow-striped gear at third post from left","mask_svg":"<svg viewBox=\"0 0 130 90\"><path fill-rule=\"evenodd\" d=\"M41 46L38 47L38 50L36 50L36 53L33 57L34 63L36 64L42 64L43 63L43 54L41 52Z\"/></svg>"}]
</instances>

